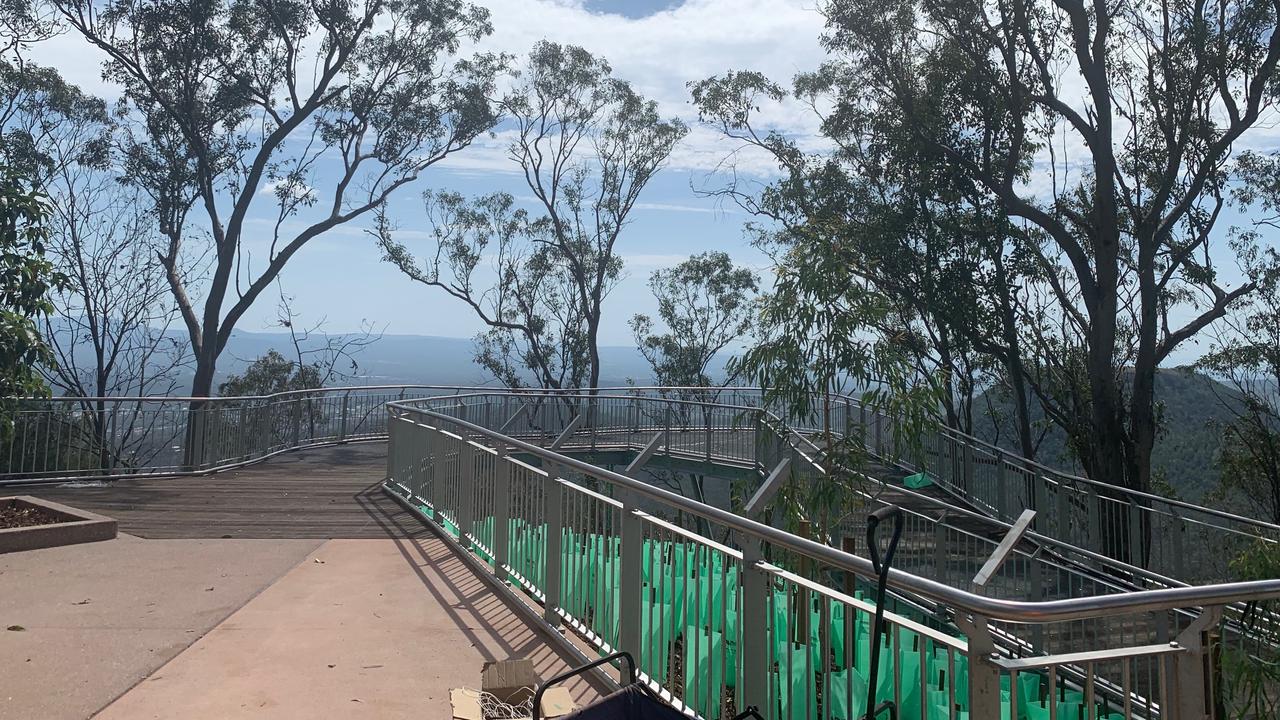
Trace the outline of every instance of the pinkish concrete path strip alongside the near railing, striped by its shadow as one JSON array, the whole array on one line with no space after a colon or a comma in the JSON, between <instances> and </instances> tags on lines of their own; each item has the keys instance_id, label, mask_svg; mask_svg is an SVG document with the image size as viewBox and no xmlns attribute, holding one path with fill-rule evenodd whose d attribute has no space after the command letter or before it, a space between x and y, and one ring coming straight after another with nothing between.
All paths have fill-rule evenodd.
<instances>
[{"instance_id":1,"label":"pinkish concrete path strip alongside the near railing, striped by its shadow","mask_svg":"<svg viewBox=\"0 0 1280 720\"><path fill-rule=\"evenodd\" d=\"M568 667L442 541L334 539L97 717L449 717L508 657Z\"/></svg>"}]
</instances>

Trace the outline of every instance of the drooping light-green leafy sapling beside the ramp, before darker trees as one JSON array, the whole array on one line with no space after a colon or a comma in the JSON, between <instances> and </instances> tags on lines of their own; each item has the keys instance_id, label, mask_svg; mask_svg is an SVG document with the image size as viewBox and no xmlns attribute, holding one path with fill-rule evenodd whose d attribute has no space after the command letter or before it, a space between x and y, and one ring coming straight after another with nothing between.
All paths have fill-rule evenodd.
<instances>
[{"instance_id":1,"label":"drooping light-green leafy sapling beside the ramp, before darker trees","mask_svg":"<svg viewBox=\"0 0 1280 720\"><path fill-rule=\"evenodd\" d=\"M820 533L858 509L852 491L865 461L852 420L835 425L832 396L860 392L869 410L896 416L895 447L908 452L919 448L938 407L937 387L916 375L895 338L869 332L886 318L884 297L852 274L840 242L824 229L788 231L773 292L760 301L759 340L731 363L760 386L767 405L792 418L817 416L824 474L792 482L780 501L792 521L815 521Z\"/></svg>"}]
</instances>

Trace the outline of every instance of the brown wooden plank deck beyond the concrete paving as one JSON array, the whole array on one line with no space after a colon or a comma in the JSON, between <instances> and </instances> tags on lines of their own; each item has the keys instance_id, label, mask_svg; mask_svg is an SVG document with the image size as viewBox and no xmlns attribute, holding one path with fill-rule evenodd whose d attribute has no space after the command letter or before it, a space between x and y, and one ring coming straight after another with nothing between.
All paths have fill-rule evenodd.
<instances>
[{"instance_id":1,"label":"brown wooden plank deck beyond the concrete paving","mask_svg":"<svg viewBox=\"0 0 1280 720\"><path fill-rule=\"evenodd\" d=\"M239 470L23 491L145 538L385 538L429 530L378 487L387 443L300 450Z\"/></svg>"}]
</instances>

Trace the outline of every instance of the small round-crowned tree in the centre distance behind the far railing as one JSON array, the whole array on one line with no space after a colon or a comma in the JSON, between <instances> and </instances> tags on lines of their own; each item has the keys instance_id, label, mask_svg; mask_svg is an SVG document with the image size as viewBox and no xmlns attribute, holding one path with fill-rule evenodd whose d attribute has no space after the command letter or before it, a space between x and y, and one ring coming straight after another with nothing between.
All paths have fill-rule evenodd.
<instances>
[{"instance_id":1,"label":"small round-crowned tree in the centre distance behind the far railing","mask_svg":"<svg viewBox=\"0 0 1280 720\"><path fill-rule=\"evenodd\" d=\"M631 331L655 382L710 386L708 365L755 324L751 296L758 284L755 273L735 266L727 252L691 255L675 268L654 270L649 288L667 332L657 332L648 315L631 318ZM723 382L732 379L730 374Z\"/></svg>"}]
</instances>

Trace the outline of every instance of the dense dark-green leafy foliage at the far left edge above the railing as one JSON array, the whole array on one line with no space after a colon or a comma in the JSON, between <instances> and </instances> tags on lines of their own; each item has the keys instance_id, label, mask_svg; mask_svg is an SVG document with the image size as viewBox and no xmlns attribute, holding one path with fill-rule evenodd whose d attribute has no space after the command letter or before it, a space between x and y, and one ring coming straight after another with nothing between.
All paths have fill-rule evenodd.
<instances>
[{"instance_id":1,"label":"dense dark-green leafy foliage at the far left edge above the railing","mask_svg":"<svg viewBox=\"0 0 1280 720\"><path fill-rule=\"evenodd\" d=\"M54 359L36 323L63 278L45 258L47 218L44 195L0 169L0 398L49 392L37 365Z\"/></svg>"}]
</instances>

